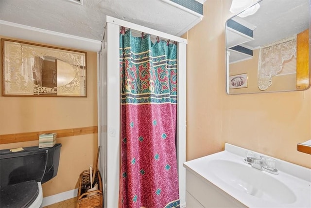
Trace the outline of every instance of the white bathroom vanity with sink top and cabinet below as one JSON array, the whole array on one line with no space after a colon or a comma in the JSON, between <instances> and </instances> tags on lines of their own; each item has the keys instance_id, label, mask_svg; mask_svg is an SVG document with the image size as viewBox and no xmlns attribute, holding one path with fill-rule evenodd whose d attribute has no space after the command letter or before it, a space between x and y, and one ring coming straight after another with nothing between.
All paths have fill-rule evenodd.
<instances>
[{"instance_id":1,"label":"white bathroom vanity with sink top and cabinet below","mask_svg":"<svg viewBox=\"0 0 311 208\"><path fill-rule=\"evenodd\" d=\"M311 169L253 151L274 161L273 174L244 161L247 152L226 143L225 151L185 162L187 208L311 207Z\"/></svg>"}]
</instances>

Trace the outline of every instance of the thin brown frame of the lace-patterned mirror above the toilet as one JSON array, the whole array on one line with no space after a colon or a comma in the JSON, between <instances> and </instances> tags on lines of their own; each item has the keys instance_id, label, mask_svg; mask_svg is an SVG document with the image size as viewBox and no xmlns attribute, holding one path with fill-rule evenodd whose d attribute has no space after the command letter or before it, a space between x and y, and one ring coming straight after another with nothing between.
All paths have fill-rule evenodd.
<instances>
[{"instance_id":1,"label":"thin brown frame of the lace-patterned mirror above the toilet","mask_svg":"<svg viewBox=\"0 0 311 208\"><path fill-rule=\"evenodd\" d=\"M56 94L42 94L42 93L35 93L35 82L33 81L33 84L34 84L34 94L33 95L29 95L29 94L23 94L22 92L21 93L12 93L12 94L7 94L6 93L6 89L5 89L5 87L6 87L6 68L5 67L7 67L6 66L6 59L8 59L9 57L6 57L5 56L5 42L13 42L13 43L17 43L17 44L19 44L19 45L24 45L24 46L35 46L36 48L38 48L38 50L40 50L40 49L42 49L42 50L49 50L49 51L51 51L51 53L56 53L56 52L59 52L59 53L70 53L70 54L77 54L77 56L79 56L80 54L81 54L81 56L83 56L84 57L84 63L82 63L82 64L84 64L85 65L85 67L83 67L84 69L85 69L85 75L83 74L83 75L81 75L81 74L77 74L79 77L84 77L84 79L85 79L85 82L84 82L84 91L85 91L85 94L77 94L77 95L66 95L66 94L64 94L64 95L57 95L57 93ZM1 60L2 60L2 64L1 64L1 72L2 72L2 96L34 96L34 97L87 97L87 76L86 76L86 74L87 74L87 64L86 64L86 52L85 51L78 51L78 50L72 50L72 49L66 49L66 48L61 48L61 47L54 47L54 46L47 46L47 45L42 45L42 44L37 44L37 43L30 43L30 42L25 42L25 41L18 41L18 40L13 40L13 39L6 39L6 38L1 38L1 47L2 47L2 50L1 50ZM35 51L36 50L33 50L33 54L35 53ZM69 55L70 56L70 55ZM19 58L22 58L21 57L21 55L20 55L20 57ZM59 60L59 59L57 59L57 57L55 58L55 65L56 65L56 62L57 62L57 60ZM14 60L13 60L14 61ZM81 61L81 62L83 62L83 61ZM62 61L62 62L64 62L64 61ZM67 62L64 62L64 63L67 63ZM70 64L70 63L69 63ZM73 65L73 66L78 66L78 64L79 63L77 63L76 65L74 65L74 64L70 64L70 65ZM83 65L83 66L84 66ZM82 65L80 65L80 66L82 66ZM21 65L19 66L19 67L21 67ZM52 70L52 80L51 80L51 84L56 84L56 82L57 82L57 80L55 80L55 79L53 79L53 71L55 71L54 73L56 73L56 67L55 67L55 70ZM75 72L75 77L74 77L74 79L77 77L77 75L76 75L76 72ZM57 76L57 74L56 74L56 76ZM34 79L33 79L34 80ZM72 81L70 81L70 82L73 82L74 80L72 80ZM80 81L80 80L79 80ZM69 83L70 83L69 82ZM77 85L69 85L69 83L68 84L66 84L66 86L69 86L69 87L72 87L72 88L74 88L74 87L76 87ZM79 85L78 85L79 86ZM42 87L44 87L44 86L42 86ZM83 87L83 86L82 86ZM29 87L30 88L30 87ZM56 88L56 91L58 90L58 88L59 87L55 87L55 88L53 88L53 87L44 87L44 88L47 88L48 90L50 90L50 91L52 91L52 90L55 90L55 88ZM79 89L79 88L78 88ZM80 91L81 91L81 86L80 86Z\"/></svg>"}]
</instances>

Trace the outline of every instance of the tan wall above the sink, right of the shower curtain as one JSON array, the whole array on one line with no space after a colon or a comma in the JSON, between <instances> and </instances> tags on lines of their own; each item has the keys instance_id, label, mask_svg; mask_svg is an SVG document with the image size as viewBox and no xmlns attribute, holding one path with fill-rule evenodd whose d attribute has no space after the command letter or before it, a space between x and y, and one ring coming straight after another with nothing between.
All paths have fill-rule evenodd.
<instances>
[{"instance_id":1,"label":"tan wall above the sink, right of the shower curtain","mask_svg":"<svg viewBox=\"0 0 311 208\"><path fill-rule=\"evenodd\" d=\"M188 32L187 160L222 151L225 142L311 168L296 145L311 139L311 89L226 95L225 21L230 0L207 0Z\"/></svg>"}]
</instances>

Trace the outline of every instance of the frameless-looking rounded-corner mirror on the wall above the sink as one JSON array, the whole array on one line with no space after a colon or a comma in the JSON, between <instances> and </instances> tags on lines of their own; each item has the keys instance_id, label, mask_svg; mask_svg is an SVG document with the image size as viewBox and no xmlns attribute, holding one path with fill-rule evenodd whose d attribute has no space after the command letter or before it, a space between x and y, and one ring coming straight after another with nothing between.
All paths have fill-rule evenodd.
<instances>
[{"instance_id":1,"label":"frameless-looking rounded-corner mirror on the wall above the sink","mask_svg":"<svg viewBox=\"0 0 311 208\"><path fill-rule=\"evenodd\" d=\"M248 11L256 11L247 16ZM310 87L309 0L261 0L226 21L226 92Z\"/></svg>"}]
</instances>

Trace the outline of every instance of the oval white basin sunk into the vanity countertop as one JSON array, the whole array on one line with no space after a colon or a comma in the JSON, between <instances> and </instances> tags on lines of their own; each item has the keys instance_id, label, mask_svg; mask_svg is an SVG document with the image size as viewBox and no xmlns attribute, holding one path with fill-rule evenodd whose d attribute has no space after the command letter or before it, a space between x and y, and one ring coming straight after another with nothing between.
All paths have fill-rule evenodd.
<instances>
[{"instance_id":1,"label":"oval white basin sunk into the vanity countertop","mask_svg":"<svg viewBox=\"0 0 311 208\"><path fill-rule=\"evenodd\" d=\"M211 160L209 170L227 185L266 201L291 204L296 201L294 192L270 173L252 168L244 163L229 160Z\"/></svg>"}]
</instances>

